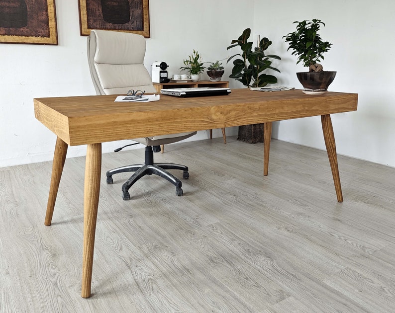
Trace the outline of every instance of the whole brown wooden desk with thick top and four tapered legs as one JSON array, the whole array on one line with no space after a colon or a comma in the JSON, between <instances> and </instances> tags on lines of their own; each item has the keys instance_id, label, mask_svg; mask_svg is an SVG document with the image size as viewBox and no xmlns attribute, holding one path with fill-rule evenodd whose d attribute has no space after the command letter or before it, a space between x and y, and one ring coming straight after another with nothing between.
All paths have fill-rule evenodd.
<instances>
[{"instance_id":1,"label":"whole brown wooden desk with thick top and four tapered legs","mask_svg":"<svg viewBox=\"0 0 395 313\"><path fill-rule=\"evenodd\" d=\"M101 174L101 143L213 128L265 123L264 175L268 174L272 122L321 116L337 200L343 201L336 146L329 114L357 110L358 94L301 90L258 92L234 89L230 95L197 98L161 96L149 103L114 102L115 95L34 99L35 117L56 140L45 225L51 225L68 146L88 145L84 185L82 297L91 295L93 253Z\"/></svg>"}]
</instances>

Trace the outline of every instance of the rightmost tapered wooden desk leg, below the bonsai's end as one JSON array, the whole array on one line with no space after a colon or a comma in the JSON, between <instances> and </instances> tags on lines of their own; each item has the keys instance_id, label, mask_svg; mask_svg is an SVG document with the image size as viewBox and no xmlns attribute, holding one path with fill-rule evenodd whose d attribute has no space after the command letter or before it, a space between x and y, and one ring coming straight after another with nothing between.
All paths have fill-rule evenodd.
<instances>
[{"instance_id":1,"label":"rightmost tapered wooden desk leg, below the bonsai's end","mask_svg":"<svg viewBox=\"0 0 395 313\"><path fill-rule=\"evenodd\" d=\"M333 127L330 115L321 115L322 131L324 133L324 140L326 152L328 153L330 168L332 170L333 182L335 183L335 190L337 201L343 202L343 195L341 192L339 168L337 165L337 154L335 136L333 134Z\"/></svg>"}]
</instances>

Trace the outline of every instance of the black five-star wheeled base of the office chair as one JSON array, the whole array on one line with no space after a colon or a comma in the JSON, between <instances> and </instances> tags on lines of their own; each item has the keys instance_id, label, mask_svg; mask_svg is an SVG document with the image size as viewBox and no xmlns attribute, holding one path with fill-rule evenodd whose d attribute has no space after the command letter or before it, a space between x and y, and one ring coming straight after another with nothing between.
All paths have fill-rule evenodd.
<instances>
[{"instance_id":1,"label":"black five-star wheeled base of the office chair","mask_svg":"<svg viewBox=\"0 0 395 313\"><path fill-rule=\"evenodd\" d=\"M129 189L133 184L145 175L155 174L165 178L176 186L176 195L182 196L183 189L182 182L176 178L173 174L169 173L167 169L180 169L183 171L183 178L189 178L188 166L173 163L154 163L153 162L153 150L152 147L145 147L145 163L144 164L133 164L127 166L121 166L107 171L107 184L112 184L112 175L124 172L135 172L130 178L122 185L122 199L129 200L130 194Z\"/></svg>"}]
</instances>

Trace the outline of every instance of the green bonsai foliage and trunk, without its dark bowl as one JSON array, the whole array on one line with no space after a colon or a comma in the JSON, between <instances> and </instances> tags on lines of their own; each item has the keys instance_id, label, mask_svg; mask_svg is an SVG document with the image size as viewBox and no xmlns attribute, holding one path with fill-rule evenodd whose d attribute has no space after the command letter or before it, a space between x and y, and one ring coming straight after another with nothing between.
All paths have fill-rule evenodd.
<instances>
[{"instance_id":1,"label":"green bonsai foliage and trunk, without its dark bowl","mask_svg":"<svg viewBox=\"0 0 395 313\"><path fill-rule=\"evenodd\" d=\"M296 64L302 62L305 67L309 68L309 72L321 72L323 70L320 59L324 59L323 53L328 52L331 45L327 41L322 41L318 35L320 26L325 26L325 23L319 19L312 19L311 21L304 20L301 22L294 22L296 31L289 33L285 37L285 42L289 43L287 49L294 50L293 55L297 56Z\"/></svg>"}]
</instances>

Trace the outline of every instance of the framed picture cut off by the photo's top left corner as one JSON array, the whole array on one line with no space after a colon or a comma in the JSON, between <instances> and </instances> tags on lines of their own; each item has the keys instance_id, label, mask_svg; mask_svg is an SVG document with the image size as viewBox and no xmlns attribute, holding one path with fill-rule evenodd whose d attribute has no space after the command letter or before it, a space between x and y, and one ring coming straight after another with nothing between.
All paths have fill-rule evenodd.
<instances>
[{"instance_id":1,"label":"framed picture cut off by the photo's top left corner","mask_svg":"<svg viewBox=\"0 0 395 313\"><path fill-rule=\"evenodd\" d=\"M0 0L0 43L57 45L55 0Z\"/></svg>"}]
</instances>

